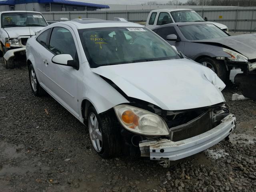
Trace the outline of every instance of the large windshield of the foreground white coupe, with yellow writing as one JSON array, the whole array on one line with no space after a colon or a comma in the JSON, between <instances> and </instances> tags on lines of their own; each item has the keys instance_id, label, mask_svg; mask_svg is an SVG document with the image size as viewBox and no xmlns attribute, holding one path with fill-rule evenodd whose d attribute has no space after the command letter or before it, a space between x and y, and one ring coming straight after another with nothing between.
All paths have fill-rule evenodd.
<instances>
[{"instance_id":1,"label":"large windshield of the foreground white coupe, with yellow writing","mask_svg":"<svg viewBox=\"0 0 256 192\"><path fill-rule=\"evenodd\" d=\"M78 31L92 68L180 58L167 42L147 28L109 27Z\"/></svg>"}]
</instances>

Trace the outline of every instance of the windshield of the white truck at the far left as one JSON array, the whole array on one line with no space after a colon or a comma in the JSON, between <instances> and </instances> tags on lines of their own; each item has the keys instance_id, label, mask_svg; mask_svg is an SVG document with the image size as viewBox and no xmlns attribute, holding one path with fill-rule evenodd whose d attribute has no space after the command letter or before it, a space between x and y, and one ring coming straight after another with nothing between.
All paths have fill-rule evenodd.
<instances>
[{"instance_id":1,"label":"windshield of the white truck at the far left","mask_svg":"<svg viewBox=\"0 0 256 192\"><path fill-rule=\"evenodd\" d=\"M40 13L10 12L1 15L2 28L24 26L47 26Z\"/></svg>"}]
</instances>

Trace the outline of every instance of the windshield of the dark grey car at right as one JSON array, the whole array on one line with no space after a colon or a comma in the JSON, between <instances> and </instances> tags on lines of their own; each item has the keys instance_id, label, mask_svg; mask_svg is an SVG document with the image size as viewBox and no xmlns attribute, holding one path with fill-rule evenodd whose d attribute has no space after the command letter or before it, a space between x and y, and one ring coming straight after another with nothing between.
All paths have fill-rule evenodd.
<instances>
[{"instance_id":1,"label":"windshield of the dark grey car at right","mask_svg":"<svg viewBox=\"0 0 256 192\"><path fill-rule=\"evenodd\" d=\"M214 24L193 24L179 26L180 31L188 40L203 40L229 36Z\"/></svg>"}]
</instances>

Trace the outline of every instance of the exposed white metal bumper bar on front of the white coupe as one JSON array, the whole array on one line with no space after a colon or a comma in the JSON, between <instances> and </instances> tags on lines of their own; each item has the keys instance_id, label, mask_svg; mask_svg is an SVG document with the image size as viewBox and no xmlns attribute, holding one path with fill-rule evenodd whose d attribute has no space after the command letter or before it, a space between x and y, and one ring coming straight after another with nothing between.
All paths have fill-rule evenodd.
<instances>
[{"instance_id":1,"label":"exposed white metal bumper bar on front of the white coupe","mask_svg":"<svg viewBox=\"0 0 256 192\"><path fill-rule=\"evenodd\" d=\"M226 138L234 130L235 120L234 115L229 114L215 128L178 142L172 142L168 139L141 142L141 156L150 156L151 160L178 160L191 156Z\"/></svg>"}]
</instances>

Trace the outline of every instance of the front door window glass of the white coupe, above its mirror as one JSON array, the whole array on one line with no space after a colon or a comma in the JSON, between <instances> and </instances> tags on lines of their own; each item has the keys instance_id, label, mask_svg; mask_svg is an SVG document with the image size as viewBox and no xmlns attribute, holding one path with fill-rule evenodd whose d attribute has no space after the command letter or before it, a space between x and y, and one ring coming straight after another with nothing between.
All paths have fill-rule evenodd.
<instances>
[{"instance_id":1,"label":"front door window glass of the white coupe, above its mirror","mask_svg":"<svg viewBox=\"0 0 256 192\"><path fill-rule=\"evenodd\" d=\"M70 54L74 60L76 59L76 45L71 32L66 28L53 28L49 49L56 55Z\"/></svg>"}]
</instances>

